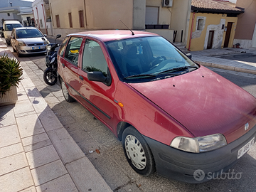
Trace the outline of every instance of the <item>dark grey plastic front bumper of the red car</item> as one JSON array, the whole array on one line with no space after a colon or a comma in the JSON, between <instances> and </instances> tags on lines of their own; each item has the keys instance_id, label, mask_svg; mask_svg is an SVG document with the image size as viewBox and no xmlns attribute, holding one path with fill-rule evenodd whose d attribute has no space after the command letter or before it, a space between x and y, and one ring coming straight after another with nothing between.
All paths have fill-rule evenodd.
<instances>
[{"instance_id":1,"label":"dark grey plastic front bumper of the red car","mask_svg":"<svg viewBox=\"0 0 256 192\"><path fill-rule=\"evenodd\" d=\"M149 137L144 136L144 139L153 153L159 175L186 183L203 183L209 181L208 174L220 176L221 173L228 171L238 161L238 150L253 137L256 137L256 125L234 142L220 149L199 154L174 149ZM200 181L193 176L196 170L202 170L205 174Z\"/></svg>"}]
</instances>

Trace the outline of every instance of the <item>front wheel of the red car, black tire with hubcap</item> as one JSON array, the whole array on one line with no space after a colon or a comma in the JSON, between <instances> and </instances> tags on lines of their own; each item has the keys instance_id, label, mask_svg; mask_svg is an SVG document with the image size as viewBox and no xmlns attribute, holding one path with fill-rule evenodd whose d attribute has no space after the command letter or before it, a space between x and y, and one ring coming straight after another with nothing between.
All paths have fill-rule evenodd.
<instances>
[{"instance_id":1,"label":"front wheel of the red car, black tire with hubcap","mask_svg":"<svg viewBox=\"0 0 256 192\"><path fill-rule=\"evenodd\" d=\"M122 146L129 165L138 174L149 176L156 171L154 156L146 140L137 129L132 126L124 129Z\"/></svg>"}]
</instances>

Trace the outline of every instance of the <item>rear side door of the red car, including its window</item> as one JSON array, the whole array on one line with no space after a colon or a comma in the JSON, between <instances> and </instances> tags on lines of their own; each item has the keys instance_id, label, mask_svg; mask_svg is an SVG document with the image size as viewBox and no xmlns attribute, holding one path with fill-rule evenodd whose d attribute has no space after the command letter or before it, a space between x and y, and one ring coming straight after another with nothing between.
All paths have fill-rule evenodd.
<instances>
[{"instance_id":1,"label":"rear side door of the red car, including its window","mask_svg":"<svg viewBox=\"0 0 256 192\"><path fill-rule=\"evenodd\" d=\"M83 38L78 36L71 36L69 38L65 47L65 53L63 53L63 57L60 57L60 63L58 65L59 68L61 68L60 76L68 85L68 90L71 95L77 100L80 99L80 95L76 90L80 89L80 82L78 80L78 58L82 40ZM61 54L61 50L59 54Z\"/></svg>"}]
</instances>

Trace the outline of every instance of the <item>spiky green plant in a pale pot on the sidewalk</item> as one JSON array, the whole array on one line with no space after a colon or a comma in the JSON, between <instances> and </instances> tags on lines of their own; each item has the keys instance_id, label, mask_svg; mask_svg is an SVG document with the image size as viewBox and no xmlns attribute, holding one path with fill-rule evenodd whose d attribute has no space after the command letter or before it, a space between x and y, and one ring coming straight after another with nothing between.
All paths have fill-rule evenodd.
<instances>
[{"instance_id":1,"label":"spiky green plant in a pale pot on the sidewalk","mask_svg":"<svg viewBox=\"0 0 256 192\"><path fill-rule=\"evenodd\" d=\"M18 100L16 87L22 79L22 70L16 58L9 58L7 54L0 56L0 105L15 104Z\"/></svg>"}]
</instances>

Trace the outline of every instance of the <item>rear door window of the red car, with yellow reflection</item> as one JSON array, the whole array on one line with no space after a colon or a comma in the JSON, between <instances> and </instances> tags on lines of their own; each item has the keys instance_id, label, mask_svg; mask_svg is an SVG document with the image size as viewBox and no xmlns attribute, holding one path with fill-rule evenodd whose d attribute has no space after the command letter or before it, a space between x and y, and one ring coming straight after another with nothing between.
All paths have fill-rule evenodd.
<instances>
[{"instance_id":1,"label":"rear door window of the red car, with yellow reflection","mask_svg":"<svg viewBox=\"0 0 256 192\"><path fill-rule=\"evenodd\" d=\"M78 55L82 44L82 38L71 37L65 50L65 58L70 60L73 65L78 66Z\"/></svg>"}]
</instances>

